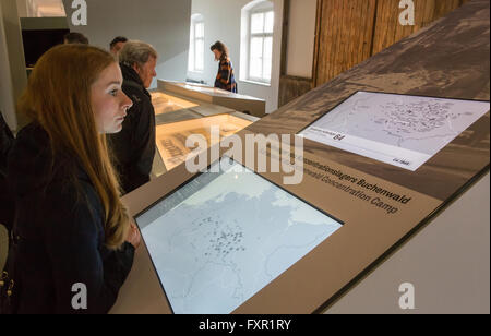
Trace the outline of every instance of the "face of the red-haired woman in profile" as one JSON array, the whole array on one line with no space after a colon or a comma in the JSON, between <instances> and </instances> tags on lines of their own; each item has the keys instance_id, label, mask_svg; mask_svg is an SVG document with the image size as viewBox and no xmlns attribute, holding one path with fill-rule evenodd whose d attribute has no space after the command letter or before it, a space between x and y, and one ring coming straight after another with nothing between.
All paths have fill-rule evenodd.
<instances>
[{"instance_id":1,"label":"face of the red-haired woman in profile","mask_svg":"<svg viewBox=\"0 0 491 336\"><path fill-rule=\"evenodd\" d=\"M118 133L127 110L133 105L121 91L121 69L118 63L107 67L91 86L91 104L97 130L101 134Z\"/></svg>"}]
</instances>

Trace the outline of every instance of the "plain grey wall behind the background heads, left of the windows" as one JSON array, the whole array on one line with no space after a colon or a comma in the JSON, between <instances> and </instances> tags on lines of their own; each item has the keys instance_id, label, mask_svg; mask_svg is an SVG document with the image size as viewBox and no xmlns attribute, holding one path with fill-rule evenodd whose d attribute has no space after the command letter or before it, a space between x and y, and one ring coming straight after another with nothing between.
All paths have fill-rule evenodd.
<instances>
[{"instance_id":1,"label":"plain grey wall behind the background heads, left of the windows","mask_svg":"<svg viewBox=\"0 0 491 336\"><path fill-rule=\"evenodd\" d=\"M116 36L149 43L159 52L157 79L184 81L191 0L86 0L87 25L73 26L75 11L71 0L63 0L72 32L87 36L92 45L108 49ZM156 81L152 87L156 86Z\"/></svg>"}]
</instances>

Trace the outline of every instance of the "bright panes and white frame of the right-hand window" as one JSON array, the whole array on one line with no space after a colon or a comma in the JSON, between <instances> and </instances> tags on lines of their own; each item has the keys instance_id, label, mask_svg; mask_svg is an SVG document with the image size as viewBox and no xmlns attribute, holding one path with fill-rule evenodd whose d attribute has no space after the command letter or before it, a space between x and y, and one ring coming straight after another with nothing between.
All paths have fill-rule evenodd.
<instances>
[{"instance_id":1,"label":"bright panes and white frame of the right-hand window","mask_svg":"<svg viewBox=\"0 0 491 336\"><path fill-rule=\"evenodd\" d=\"M267 2L266 2L267 3ZM271 83L273 62L273 7L250 11L248 80Z\"/></svg>"}]
</instances>

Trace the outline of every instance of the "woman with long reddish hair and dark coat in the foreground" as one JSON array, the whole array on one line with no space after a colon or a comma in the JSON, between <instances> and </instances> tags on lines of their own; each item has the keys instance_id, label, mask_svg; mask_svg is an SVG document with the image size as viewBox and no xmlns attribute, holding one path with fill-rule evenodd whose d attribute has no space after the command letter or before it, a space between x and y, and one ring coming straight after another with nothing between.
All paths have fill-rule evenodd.
<instances>
[{"instance_id":1,"label":"woman with long reddish hair and dark coat in the foreground","mask_svg":"<svg viewBox=\"0 0 491 336\"><path fill-rule=\"evenodd\" d=\"M34 68L19 103L33 122L7 172L13 313L107 313L116 302L141 241L106 146L132 105L121 85L112 55L92 46L57 46Z\"/></svg>"}]
</instances>

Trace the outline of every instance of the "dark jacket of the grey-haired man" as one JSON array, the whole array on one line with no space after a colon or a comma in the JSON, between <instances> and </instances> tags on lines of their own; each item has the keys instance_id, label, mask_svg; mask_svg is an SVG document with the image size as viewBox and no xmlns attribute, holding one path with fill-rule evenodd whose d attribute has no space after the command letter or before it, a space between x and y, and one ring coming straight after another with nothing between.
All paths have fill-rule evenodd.
<instances>
[{"instance_id":1,"label":"dark jacket of the grey-haired man","mask_svg":"<svg viewBox=\"0 0 491 336\"><path fill-rule=\"evenodd\" d=\"M121 63L122 91L133 101L121 132L108 136L121 187L129 193L149 181L156 151L155 110L139 74Z\"/></svg>"}]
</instances>

